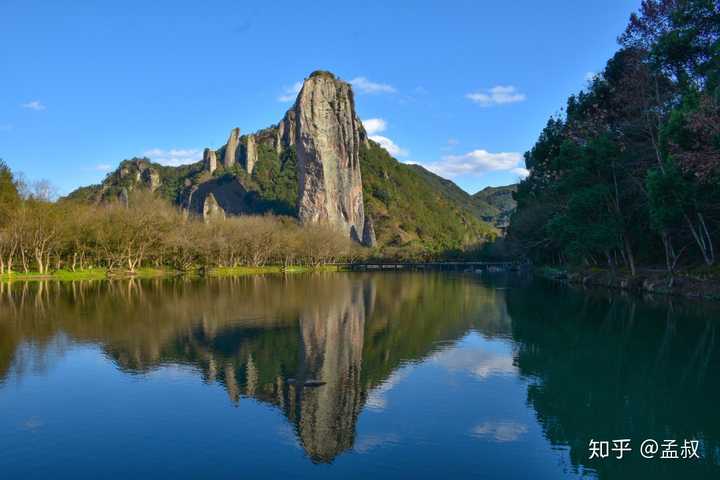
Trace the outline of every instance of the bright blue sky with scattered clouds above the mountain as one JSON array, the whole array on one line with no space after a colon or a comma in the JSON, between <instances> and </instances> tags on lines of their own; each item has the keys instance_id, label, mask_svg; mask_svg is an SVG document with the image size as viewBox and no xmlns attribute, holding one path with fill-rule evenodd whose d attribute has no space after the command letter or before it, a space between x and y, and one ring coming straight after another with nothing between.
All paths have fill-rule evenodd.
<instances>
[{"instance_id":1,"label":"bright blue sky with scattered clouds above the mountain","mask_svg":"<svg viewBox=\"0 0 720 480\"><path fill-rule=\"evenodd\" d=\"M0 158L68 193L277 123L317 69L397 158L470 193L617 49L639 0L0 1ZM372 121L370 121L372 120ZM379 136L379 138L378 138Z\"/></svg>"}]
</instances>

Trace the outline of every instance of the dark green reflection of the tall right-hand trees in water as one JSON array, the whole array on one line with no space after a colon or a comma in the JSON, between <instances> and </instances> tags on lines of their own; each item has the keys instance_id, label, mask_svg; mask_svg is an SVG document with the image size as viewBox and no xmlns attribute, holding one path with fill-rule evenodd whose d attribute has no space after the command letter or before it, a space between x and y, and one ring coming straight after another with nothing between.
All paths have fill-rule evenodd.
<instances>
[{"instance_id":1,"label":"dark green reflection of the tall right-hand trees in water","mask_svg":"<svg viewBox=\"0 0 720 480\"><path fill-rule=\"evenodd\" d=\"M569 447L576 471L720 478L716 305L546 283L510 290L507 303L519 345L515 362L530 380L528 403L548 440ZM589 461L590 438L632 439L634 454ZM644 459L638 448L647 438L699 440L703 458Z\"/></svg>"}]
</instances>

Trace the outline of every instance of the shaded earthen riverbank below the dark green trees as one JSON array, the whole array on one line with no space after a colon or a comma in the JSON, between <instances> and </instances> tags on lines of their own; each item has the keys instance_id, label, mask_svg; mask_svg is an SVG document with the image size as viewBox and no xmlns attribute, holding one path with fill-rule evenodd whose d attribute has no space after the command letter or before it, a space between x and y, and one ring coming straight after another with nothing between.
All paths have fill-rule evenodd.
<instances>
[{"instance_id":1,"label":"shaded earthen riverbank below the dark green trees","mask_svg":"<svg viewBox=\"0 0 720 480\"><path fill-rule=\"evenodd\" d=\"M538 267L535 274L572 285L604 287L656 295L720 301L720 270L699 268L678 272L673 281L662 270L641 269L634 277L629 272L557 267Z\"/></svg>"}]
</instances>

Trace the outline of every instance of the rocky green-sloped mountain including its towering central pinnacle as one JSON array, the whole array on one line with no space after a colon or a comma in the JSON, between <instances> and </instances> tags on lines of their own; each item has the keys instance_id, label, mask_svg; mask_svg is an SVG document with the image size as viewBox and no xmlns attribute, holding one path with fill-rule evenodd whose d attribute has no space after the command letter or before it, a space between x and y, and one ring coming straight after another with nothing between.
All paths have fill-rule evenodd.
<instances>
[{"instance_id":1,"label":"rocky green-sloped mountain including its towering central pinnacle","mask_svg":"<svg viewBox=\"0 0 720 480\"><path fill-rule=\"evenodd\" d=\"M69 198L127 199L136 189L204 217L273 213L332 225L388 251L457 250L497 234L473 197L370 140L350 84L326 71L305 79L276 125L245 135L233 128L225 145L191 165L125 160Z\"/></svg>"}]
</instances>

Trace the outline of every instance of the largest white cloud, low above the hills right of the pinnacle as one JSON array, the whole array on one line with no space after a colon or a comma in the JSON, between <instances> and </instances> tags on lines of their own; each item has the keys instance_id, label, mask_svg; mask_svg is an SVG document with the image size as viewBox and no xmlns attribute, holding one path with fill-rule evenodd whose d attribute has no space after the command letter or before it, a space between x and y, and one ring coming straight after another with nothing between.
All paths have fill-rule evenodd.
<instances>
[{"instance_id":1,"label":"largest white cloud, low above the hills right of the pinnacle","mask_svg":"<svg viewBox=\"0 0 720 480\"><path fill-rule=\"evenodd\" d=\"M523 157L517 152L491 153L473 150L464 155L446 155L438 162L427 164L428 170L443 177L482 175L487 172L510 171L522 175Z\"/></svg>"}]
</instances>

